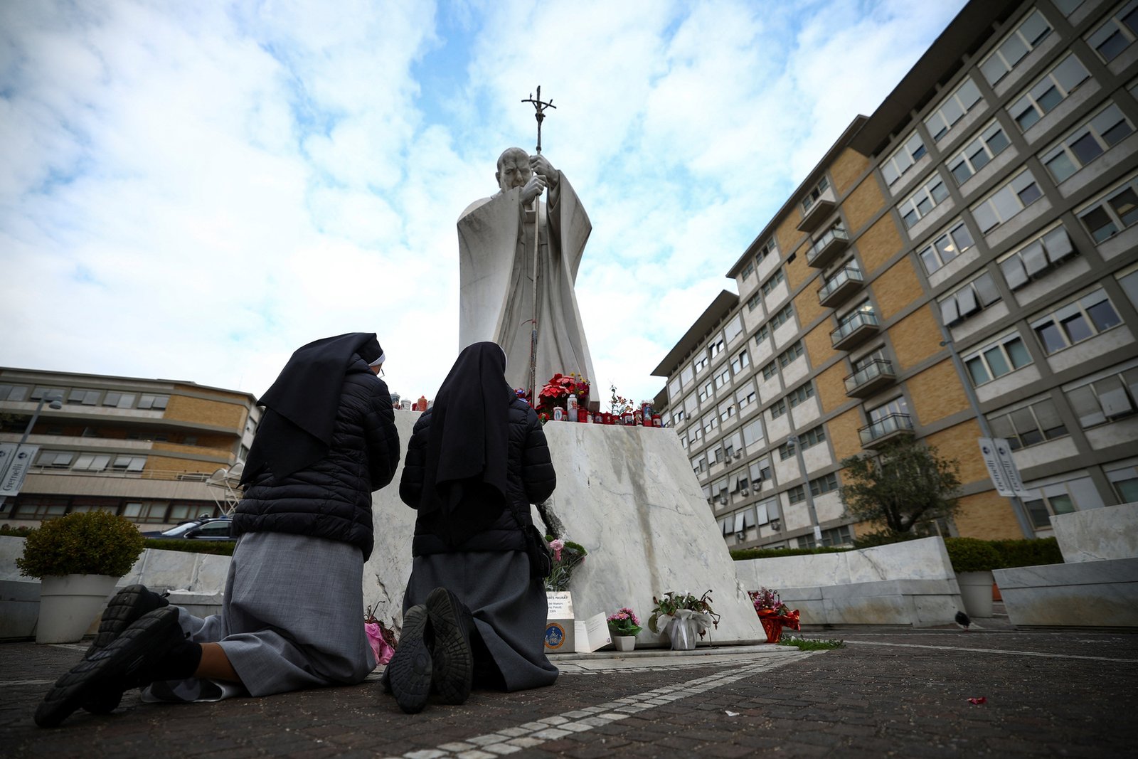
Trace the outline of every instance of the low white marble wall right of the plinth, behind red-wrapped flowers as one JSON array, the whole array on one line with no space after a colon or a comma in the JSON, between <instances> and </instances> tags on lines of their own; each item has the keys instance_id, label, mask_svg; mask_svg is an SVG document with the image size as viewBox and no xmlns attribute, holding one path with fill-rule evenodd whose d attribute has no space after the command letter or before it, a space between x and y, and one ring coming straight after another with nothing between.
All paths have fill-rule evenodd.
<instances>
[{"instance_id":1,"label":"low white marble wall right of the plinth, behind red-wrapped flowers","mask_svg":"<svg viewBox=\"0 0 1138 759\"><path fill-rule=\"evenodd\" d=\"M951 624L963 609L939 537L735 564L748 589L777 589L805 625L930 627Z\"/></svg>"}]
</instances>

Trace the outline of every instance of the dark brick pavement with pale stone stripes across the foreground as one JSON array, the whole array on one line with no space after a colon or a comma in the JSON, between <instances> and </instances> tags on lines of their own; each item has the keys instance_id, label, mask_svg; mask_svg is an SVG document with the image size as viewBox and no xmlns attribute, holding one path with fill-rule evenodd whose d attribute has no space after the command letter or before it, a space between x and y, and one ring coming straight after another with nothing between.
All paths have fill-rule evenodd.
<instances>
[{"instance_id":1,"label":"dark brick pavement with pale stone stripes across the foreground","mask_svg":"<svg viewBox=\"0 0 1138 759\"><path fill-rule=\"evenodd\" d=\"M640 657L550 688L476 692L404 715L357 687L148 706L32 724L84 646L0 645L0 756L22 757L1050 757L1133 756L1138 635L853 629L810 654ZM591 660L595 663L595 659ZM973 706L968 698L984 696Z\"/></svg>"}]
</instances>

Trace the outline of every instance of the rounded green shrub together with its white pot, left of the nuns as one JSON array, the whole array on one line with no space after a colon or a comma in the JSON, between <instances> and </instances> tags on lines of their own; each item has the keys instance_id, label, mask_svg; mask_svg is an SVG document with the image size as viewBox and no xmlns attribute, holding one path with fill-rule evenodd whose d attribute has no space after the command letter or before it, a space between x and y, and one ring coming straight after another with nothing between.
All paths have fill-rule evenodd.
<instances>
[{"instance_id":1,"label":"rounded green shrub together with its white pot, left of the nuns","mask_svg":"<svg viewBox=\"0 0 1138 759\"><path fill-rule=\"evenodd\" d=\"M106 511L71 513L28 533L16 566L40 579L35 642L81 640L145 545L132 521Z\"/></svg>"}]
</instances>

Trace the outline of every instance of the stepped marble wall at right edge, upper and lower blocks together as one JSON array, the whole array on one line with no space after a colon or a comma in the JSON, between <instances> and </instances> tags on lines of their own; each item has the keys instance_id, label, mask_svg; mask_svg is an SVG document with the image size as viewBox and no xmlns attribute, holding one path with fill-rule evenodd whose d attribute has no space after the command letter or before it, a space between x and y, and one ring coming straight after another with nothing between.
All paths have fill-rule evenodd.
<instances>
[{"instance_id":1,"label":"stepped marble wall at right edge, upper and lower blocks together","mask_svg":"<svg viewBox=\"0 0 1138 759\"><path fill-rule=\"evenodd\" d=\"M1138 627L1138 504L1052 517L1062 564L992 572L1017 627Z\"/></svg>"}]
</instances>

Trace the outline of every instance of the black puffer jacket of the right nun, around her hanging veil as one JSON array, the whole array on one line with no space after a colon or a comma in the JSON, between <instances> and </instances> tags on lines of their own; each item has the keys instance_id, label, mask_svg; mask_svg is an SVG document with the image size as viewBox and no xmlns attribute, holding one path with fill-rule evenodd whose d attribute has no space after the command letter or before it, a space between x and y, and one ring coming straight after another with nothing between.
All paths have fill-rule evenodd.
<instances>
[{"instance_id":1,"label":"black puffer jacket of the right nun, around her hanging veil","mask_svg":"<svg viewBox=\"0 0 1138 759\"><path fill-rule=\"evenodd\" d=\"M545 432L537 421L537 414L520 398L510 403L510 438L506 443L506 497L521 514L526 526L531 523L529 504L541 503L550 497L556 487L558 476L550 460L550 446ZM431 412L427 411L415 422L415 429L407 445L407 456L403 462L403 478L399 480L399 497L412 509L419 508L423 489L423 464L427 459L427 437L430 430ZM525 551L521 527L509 509L484 531L470 536L457 545L447 545L443 530L432 529L434 518L420 515L415 520L415 537L411 544L411 555L451 553L457 551Z\"/></svg>"}]
</instances>

